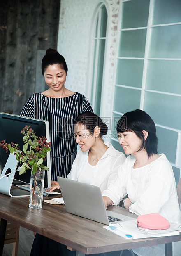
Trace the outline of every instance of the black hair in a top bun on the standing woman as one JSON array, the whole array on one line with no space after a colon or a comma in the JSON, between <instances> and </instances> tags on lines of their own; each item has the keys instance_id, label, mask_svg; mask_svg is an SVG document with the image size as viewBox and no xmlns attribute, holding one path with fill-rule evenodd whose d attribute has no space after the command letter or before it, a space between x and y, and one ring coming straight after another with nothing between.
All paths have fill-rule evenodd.
<instances>
[{"instance_id":1,"label":"black hair in a top bun on the standing woman","mask_svg":"<svg viewBox=\"0 0 181 256\"><path fill-rule=\"evenodd\" d=\"M64 69L67 73L68 68L67 64L65 62L65 59L60 53L57 52L57 50L54 49L47 49L46 55L44 55L42 59L42 74L44 75L44 71L47 69L49 65L58 64L61 69Z\"/></svg>"}]
</instances>

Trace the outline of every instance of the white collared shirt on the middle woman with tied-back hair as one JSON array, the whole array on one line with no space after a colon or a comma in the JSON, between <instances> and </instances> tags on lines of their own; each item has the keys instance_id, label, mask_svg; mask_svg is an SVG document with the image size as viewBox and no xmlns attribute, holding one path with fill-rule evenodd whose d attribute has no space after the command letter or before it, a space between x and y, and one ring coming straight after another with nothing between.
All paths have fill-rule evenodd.
<instances>
[{"instance_id":1,"label":"white collared shirt on the middle woman with tied-back hair","mask_svg":"<svg viewBox=\"0 0 181 256\"><path fill-rule=\"evenodd\" d=\"M95 175L89 183L90 185L100 187L101 191L107 189L111 183L111 180L116 178L119 167L125 161L125 155L116 150L111 143L104 142L104 144L108 147L108 149L97 162L96 166L94 166ZM88 151L83 152L81 149L78 150L77 156L72 165L72 169L67 175L68 179L78 180L79 176L83 174L84 167L86 166L88 160Z\"/></svg>"}]
</instances>

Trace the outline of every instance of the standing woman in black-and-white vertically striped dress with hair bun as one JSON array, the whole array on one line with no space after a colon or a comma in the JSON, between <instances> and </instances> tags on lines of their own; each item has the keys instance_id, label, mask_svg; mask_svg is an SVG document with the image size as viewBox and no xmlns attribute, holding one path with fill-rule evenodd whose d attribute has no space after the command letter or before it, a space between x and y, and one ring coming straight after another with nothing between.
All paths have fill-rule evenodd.
<instances>
[{"instance_id":1,"label":"standing woman in black-and-white vertically striped dress with hair bun","mask_svg":"<svg viewBox=\"0 0 181 256\"><path fill-rule=\"evenodd\" d=\"M93 112L84 95L65 88L67 64L56 50L46 50L42 74L49 89L33 94L20 115L49 121L51 147L51 180L67 177L76 157L74 120L85 111Z\"/></svg>"}]
</instances>

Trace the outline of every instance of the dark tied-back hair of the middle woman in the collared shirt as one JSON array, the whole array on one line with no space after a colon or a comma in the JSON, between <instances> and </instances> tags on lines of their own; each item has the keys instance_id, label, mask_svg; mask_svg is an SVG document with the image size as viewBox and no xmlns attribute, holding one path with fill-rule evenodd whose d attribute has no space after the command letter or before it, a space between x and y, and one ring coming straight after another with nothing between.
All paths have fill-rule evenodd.
<instances>
[{"instance_id":1,"label":"dark tied-back hair of the middle woman in the collared shirt","mask_svg":"<svg viewBox=\"0 0 181 256\"><path fill-rule=\"evenodd\" d=\"M91 134L94 133L94 128L98 126L100 128L100 136L107 134L107 125L102 121L102 119L92 112L84 112L77 116L74 124L84 125Z\"/></svg>"}]
</instances>

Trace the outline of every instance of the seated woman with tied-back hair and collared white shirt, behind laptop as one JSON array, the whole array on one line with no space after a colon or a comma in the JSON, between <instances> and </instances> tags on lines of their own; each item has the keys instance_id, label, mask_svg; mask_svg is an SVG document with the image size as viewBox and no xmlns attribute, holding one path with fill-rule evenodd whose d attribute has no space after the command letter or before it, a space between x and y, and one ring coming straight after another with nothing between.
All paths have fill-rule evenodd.
<instances>
[{"instance_id":1,"label":"seated woman with tied-back hair and collared white shirt, behind laptop","mask_svg":"<svg viewBox=\"0 0 181 256\"><path fill-rule=\"evenodd\" d=\"M111 143L104 142L102 136L107 134L107 130L107 125L94 113L84 112L76 118L74 134L80 148L68 179L98 186L103 191L116 178L125 155ZM59 188L57 182L47 190L55 188Z\"/></svg>"}]
</instances>

